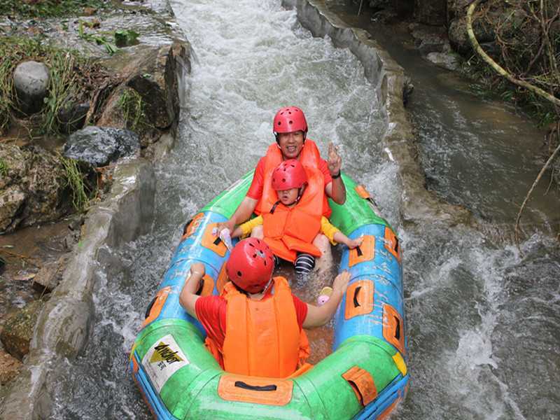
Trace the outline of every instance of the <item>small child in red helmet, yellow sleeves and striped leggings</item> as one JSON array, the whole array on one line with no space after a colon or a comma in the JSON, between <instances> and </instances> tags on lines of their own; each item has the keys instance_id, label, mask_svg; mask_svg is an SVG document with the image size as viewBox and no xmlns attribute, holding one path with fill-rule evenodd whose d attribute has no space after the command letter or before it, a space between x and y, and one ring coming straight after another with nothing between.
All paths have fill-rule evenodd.
<instances>
[{"instance_id":1,"label":"small child in red helmet, yellow sleeves and striped leggings","mask_svg":"<svg viewBox=\"0 0 560 420\"><path fill-rule=\"evenodd\" d=\"M351 249L360 246L362 238L350 239L322 215L323 183L316 172L299 160L281 162L268 186L276 190L274 197L278 200L263 206L268 210L239 225L231 236L244 237L253 231L251 236L260 237L272 249L275 264L279 265L278 258L293 262L296 274L307 274L315 267L315 257L320 257L321 251L314 239L320 233L333 245L342 243ZM262 230L254 229L259 225Z\"/></svg>"}]
</instances>

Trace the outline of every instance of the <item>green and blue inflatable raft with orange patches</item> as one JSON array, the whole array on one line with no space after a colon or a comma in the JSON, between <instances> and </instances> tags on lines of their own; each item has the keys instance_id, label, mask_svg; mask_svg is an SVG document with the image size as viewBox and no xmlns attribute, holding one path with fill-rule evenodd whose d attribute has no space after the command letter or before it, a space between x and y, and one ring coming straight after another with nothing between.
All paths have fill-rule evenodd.
<instances>
[{"instance_id":1,"label":"green and blue inflatable raft with orange patches","mask_svg":"<svg viewBox=\"0 0 560 420\"><path fill-rule=\"evenodd\" d=\"M229 251L212 235L228 220L253 178L210 202L185 227L171 265L146 312L130 366L157 419L384 419L405 396L407 338L398 238L362 186L343 175L346 203L330 221L352 239L340 269L351 273L335 314L332 353L286 379L224 372L204 346L202 325L179 304L195 261L204 262L201 295L223 288Z\"/></svg>"}]
</instances>

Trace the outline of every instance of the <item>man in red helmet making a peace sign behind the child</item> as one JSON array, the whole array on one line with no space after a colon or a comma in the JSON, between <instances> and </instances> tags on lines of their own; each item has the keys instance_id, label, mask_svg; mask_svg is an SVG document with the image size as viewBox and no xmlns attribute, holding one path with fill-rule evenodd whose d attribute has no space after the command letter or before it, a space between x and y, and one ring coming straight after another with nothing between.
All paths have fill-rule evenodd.
<instances>
[{"instance_id":1,"label":"man in red helmet making a peace sign behind the child","mask_svg":"<svg viewBox=\"0 0 560 420\"><path fill-rule=\"evenodd\" d=\"M267 154L258 161L253 182L246 196L230 220L218 224L219 230L228 228L230 232L233 232L235 225L248 220L253 211L256 214L261 214L262 211L269 210L262 209L263 203L271 201L270 197L263 197L263 193L267 195L275 194L275 192L264 187L271 184L272 172L283 160L300 160L307 169L318 170L323 174L325 190L323 208L314 209L318 213L321 212L318 216L325 216L326 218L330 216L331 210L327 197L330 197L337 204L344 204L346 201L346 188L340 176L342 159L337 153L337 148L330 143L328 145L328 162L321 159L314 141L307 139L307 120L305 120L301 109L297 106L287 106L280 109L274 116L272 132L276 137L276 144L271 144ZM276 200L277 198L274 197L272 202ZM251 236L262 238L262 226L255 228ZM313 244L319 248L323 255L330 251L330 244L325 235L317 235Z\"/></svg>"}]
</instances>

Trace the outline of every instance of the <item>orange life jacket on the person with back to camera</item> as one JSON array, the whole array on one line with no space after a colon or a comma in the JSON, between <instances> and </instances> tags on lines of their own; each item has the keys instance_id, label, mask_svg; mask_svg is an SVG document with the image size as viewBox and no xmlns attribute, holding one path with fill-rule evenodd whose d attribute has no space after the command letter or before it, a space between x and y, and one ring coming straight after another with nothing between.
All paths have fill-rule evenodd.
<instances>
[{"instance_id":1,"label":"orange life jacket on the person with back to camera","mask_svg":"<svg viewBox=\"0 0 560 420\"><path fill-rule=\"evenodd\" d=\"M288 281L274 277L273 294L251 300L228 282L222 295L228 301L223 349L207 338L207 347L226 372L285 378L304 365L309 342L297 325Z\"/></svg>"}]
</instances>

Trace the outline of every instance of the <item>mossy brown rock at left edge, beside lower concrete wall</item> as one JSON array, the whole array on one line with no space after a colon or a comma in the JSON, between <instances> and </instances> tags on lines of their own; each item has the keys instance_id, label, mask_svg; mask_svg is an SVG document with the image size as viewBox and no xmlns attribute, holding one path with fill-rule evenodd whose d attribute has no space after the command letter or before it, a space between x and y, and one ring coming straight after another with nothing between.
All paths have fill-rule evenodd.
<instances>
[{"instance_id":1,"label":"mossy brown rock at left edge, beside lower concrete wall","mask_svg":"<svg viewBox=\"0 0 560 420\"><path fill-rule=\"evenodd\" d=\"M35 323L42 307L43 302L35 300L8 316L3 325L0 332L2 344L8 353L19 360L29 353L29 342L33 337Z\"/></svg>"}]
</instances>

